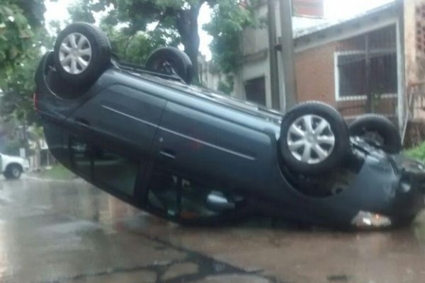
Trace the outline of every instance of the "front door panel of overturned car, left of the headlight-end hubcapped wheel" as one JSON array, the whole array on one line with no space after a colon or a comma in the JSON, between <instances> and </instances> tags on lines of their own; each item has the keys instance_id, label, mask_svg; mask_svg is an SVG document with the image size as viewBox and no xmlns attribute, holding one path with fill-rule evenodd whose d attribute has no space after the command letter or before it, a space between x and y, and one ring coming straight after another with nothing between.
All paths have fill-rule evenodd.
<instances>
[{"instance_id":1,"label":"front door panel of overturned car, left of the headlight-end hubcapped wheel","mask_svg":"<svg viewBox=\"0 0 425 283\"><path fill-rule=\"evenodd\" d=\"M276 146L271 146L270 136L254 127L262 127L254 117L208 100L169 101L152 156L185 175L235 187L258 187L270 168L268 158L276 156L268 151Z\"/></svg>"}]
</instances>

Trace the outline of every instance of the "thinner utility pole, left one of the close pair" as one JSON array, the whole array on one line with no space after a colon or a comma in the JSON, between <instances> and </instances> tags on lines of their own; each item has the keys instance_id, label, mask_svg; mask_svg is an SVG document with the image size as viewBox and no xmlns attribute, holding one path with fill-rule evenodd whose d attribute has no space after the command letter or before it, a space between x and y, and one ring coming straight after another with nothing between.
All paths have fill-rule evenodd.
<instances>
[{"instance_id":1,"label":"thinner utility pole, left one of the close pair","mask_svg":"<svg viewBox=\"0 0 425 283\"><path fill-rule=\"evenodd\" d=\"M270 60L271 106L280 110L278 43L276 35L276 0L268 0L268 59Z\"/></svg>"}]
</instances>

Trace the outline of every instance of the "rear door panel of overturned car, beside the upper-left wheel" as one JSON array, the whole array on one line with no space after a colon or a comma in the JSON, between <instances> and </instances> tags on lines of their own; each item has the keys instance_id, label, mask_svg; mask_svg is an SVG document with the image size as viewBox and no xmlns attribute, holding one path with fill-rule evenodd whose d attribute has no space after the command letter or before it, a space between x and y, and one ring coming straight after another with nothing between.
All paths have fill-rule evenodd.
<instances>
[{"instance_id":1,"label":"rear door panel of overturned car, beside the upper-left wheel","mask_svg":"<svg viewBox=\"0 0 425 283\"><path fill-rule=\"evenodd\" d=\"M69 117L82 135L128 156L149 156L166 100L137 88L114 84Z\"/></svg>"}]
</instances>

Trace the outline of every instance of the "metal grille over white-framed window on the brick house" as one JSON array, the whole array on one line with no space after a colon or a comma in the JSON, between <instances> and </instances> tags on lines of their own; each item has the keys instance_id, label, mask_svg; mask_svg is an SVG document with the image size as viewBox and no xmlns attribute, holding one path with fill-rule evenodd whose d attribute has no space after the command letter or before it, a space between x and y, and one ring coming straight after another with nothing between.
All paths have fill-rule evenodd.
<instances>
[{"instance_id":1,"label":"metal grille over white-framed window on the brick house","mask_svg":"<svg viewBox=\"0 0 425 283\"><path fill-rule=\"evenodd\" d=\"M390 25L337 42L335 98L346 118L365 113L397 121L397 30Z\"/></svg>"}]
</instances>

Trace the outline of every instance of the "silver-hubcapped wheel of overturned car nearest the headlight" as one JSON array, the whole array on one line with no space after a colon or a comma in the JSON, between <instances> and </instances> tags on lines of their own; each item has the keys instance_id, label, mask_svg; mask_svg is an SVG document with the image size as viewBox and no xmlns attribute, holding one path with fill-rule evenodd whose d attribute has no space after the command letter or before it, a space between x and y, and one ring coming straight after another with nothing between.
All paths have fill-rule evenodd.
<instances>
[{"instance_id":1,"label":"silver-hubcapped wheel of overturned car nearest the headlight","mask_svg":"<svg viewBox=\"0 0 425 283\"><path fill-rule=\"evenodd\" d=\"M283 117L279 144L284 166L305 175L341 165L350 149L348 129L339 112L315 101L297 105Z\"/></svg>"}]
</instances>

